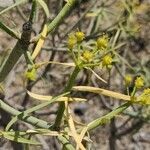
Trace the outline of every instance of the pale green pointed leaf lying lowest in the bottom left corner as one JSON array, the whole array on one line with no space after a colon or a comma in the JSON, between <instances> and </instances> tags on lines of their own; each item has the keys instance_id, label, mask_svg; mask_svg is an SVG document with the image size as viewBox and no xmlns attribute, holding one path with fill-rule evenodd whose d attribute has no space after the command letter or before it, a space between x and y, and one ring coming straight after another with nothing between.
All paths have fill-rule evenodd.
<instances>
[{"instance_id":1,"label":"pale green pointed leaf lying lowest in the bottom left corner","mask_svg":"<svg viewBox=\"0 0 150 150\"><path fill-rule=\"evenodd\" d=\"M15 132L14 135L10 134L9 132L2 132L2 136L10 141L15 141L18 143L40 145L39 142L36 142L34 140L28 140L28 139L21 137L19 135L19 132Z\"/></svg>"}]
</instances>

